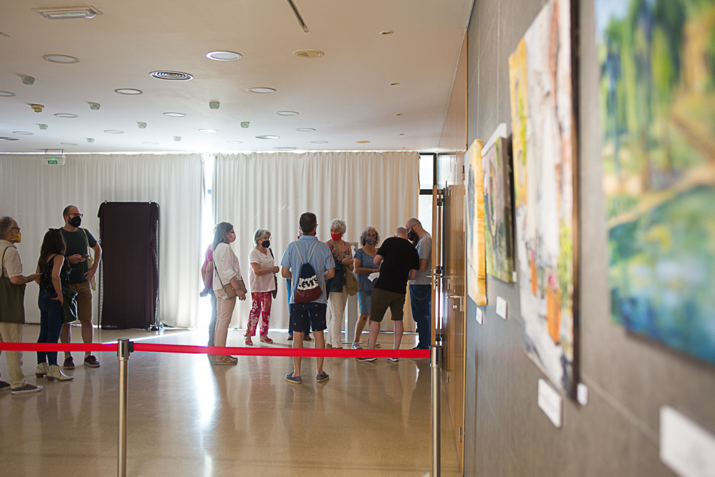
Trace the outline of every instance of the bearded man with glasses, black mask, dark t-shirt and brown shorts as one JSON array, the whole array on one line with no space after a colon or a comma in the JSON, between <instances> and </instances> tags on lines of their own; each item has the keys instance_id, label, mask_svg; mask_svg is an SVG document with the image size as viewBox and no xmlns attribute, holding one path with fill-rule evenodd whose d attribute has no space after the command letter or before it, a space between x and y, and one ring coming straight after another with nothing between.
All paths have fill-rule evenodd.
<instances>
[{"instance_id":1,"label":"bearded man with glasses, black mask, dark t-shirt and brown shorts","mask_svg":"<svg viewBox=\"0 0 715 477\"><path fill-rule=\"evenodd\" d=\"M97 240L92 237L89 230L79 228L82 225L82 214L74 205L64 207L62 211L64 217L64 227L60 229L64 242L67 245L65 257L71 266L69 273L69 287L77 292L77 318L82 324L82 341L92 343L94 328L92 327L92 281L99 267L99 260L102 260L102 247ZM89 267L89 249L94 250L94 264ZM59 335L61 343L70 342L70 323L62 326ZM84 365L89 368L99 368L99 361L89 351L84 353ZM72 355L65 351L64 369L74 369Z\"/></svg>"}]
</instances>

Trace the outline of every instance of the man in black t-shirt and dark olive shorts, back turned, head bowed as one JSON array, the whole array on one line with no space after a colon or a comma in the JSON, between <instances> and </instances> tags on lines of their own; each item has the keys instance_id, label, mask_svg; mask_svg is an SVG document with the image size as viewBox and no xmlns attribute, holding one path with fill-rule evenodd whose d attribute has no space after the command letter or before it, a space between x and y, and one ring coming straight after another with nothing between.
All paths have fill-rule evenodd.
<instances>
[{"instance_id":1,"label":"man in black t-shirt and dark olive shorts, back turned, head bowed","mask_svg":"<svg viewBox=\"0 0 715 477\"><path fill-rule=\"evenodd\" d=\"M383 242L375 255L375 265L380 266L380 277L375 283L370 299L370 340L368 349L374 350L380 333L380 322L390 308L395 325L393 349L400 349L403 335L403 309L407 295L407 282L414 280L420 268L420 255L407 238L407 230L399 227L395 237ZM358 358L358 361L374 361L375 358ZM397 363L398 358L388 358Z\"/></svg>"}]
</instances>

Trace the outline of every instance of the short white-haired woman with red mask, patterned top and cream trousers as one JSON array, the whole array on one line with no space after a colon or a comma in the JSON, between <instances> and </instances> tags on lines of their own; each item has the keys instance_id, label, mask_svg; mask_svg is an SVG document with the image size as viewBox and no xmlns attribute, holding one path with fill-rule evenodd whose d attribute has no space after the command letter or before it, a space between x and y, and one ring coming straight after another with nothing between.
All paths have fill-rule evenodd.
<instances>
[{"instance_id":1,"label":"short white-haired woman with red mask, patterned top and cream trousers","mask_svg":"<svg viewBox=\"0 0 715 477\"><path fill-rule=\"evenodd\" d=\"M335 260L335 276L327 283L327 290L330 292L327 297L327 301L330 303L330 323L327 323L325 348L342 348L340 333L347 302L344 267L352 270L352 249L349 243L342 240L345 230L347 230L347 225L344 220L333 219L330 222L330 240L325 242L330 247L332 258Z\"/></svg>"}]
</instances>

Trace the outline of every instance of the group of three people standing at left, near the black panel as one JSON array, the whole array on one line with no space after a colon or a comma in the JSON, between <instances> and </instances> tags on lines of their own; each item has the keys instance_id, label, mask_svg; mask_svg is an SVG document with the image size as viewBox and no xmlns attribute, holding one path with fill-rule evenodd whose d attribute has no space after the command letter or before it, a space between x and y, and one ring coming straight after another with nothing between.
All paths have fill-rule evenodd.
<instances>
[{"instance_id":1,"label":"group of three people standing at left, near the black panel","mask_svg":"<svg viewBox=\"0 0 715 477\"><path fill-rule=\"evenodd\" d=\"M64 295L74 295L77 302L77 319L82 325L82 341L92 343L92 282L102 260L102 247L89 230L81 228L82 213L74 205L62 211L64 225L49 229L42 240L39 260L32 275L22 274L22 263L16 245L22 240L18 222L12 217L0 218L0 340L19 343L22 325L25 323L24 292L26 284L39 285L37 305L40 312L40 332L37 343L69 343L70 321L64 320L62 308ZM92 253L94 252L94 257ZM71 291L68 291L71 290ZM36 393L41 385L26 382L22 373L21 351L6 351L10 383L0 380L0 390L11 390L13 395ZM84 365L99 368L94 355L85 352ZM74 360L69 352L64 353L60 367L56 352L37 352L36 378L48 380L71 380L64 370L74 369Z\"/></svg>"}]
</instances>

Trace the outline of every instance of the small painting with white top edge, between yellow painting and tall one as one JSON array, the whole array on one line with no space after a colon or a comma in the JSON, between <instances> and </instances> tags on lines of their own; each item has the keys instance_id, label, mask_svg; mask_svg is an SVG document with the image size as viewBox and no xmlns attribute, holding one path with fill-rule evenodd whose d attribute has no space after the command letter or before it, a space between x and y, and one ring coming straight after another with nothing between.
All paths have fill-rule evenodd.
<instances>
[{"instance_id":1,"label":"small painting with white top edge, between yellow painting and tall one","mask_svg":"<svg viewBox=\"0 0 715 477\"><path fill-rule=\"evenodd\" d=\"M482 157L484 240L487 275L511 283L514 281L511 161L505 136L506 124L501 124Z\"/></svg>"}]
</instances>

